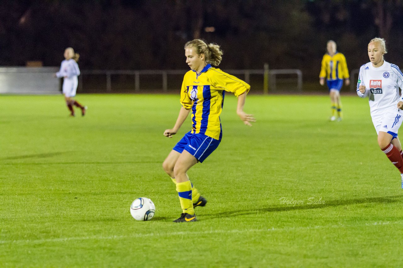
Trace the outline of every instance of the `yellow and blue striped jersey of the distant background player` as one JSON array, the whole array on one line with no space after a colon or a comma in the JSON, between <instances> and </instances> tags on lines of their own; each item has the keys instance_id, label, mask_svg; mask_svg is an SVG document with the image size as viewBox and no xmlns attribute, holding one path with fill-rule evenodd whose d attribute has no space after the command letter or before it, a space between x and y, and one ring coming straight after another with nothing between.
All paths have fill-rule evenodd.
<instances>
[{"instance_id":1,"label":"yellow and blue striped jersey of the distant background player","mask_svg":"<svg viewBox=\"0 0 403 268\"><path fill-rule=\"evenodd\" d=\"M344 55L336 52L336 54L330 56L326 53L322 59L322 68L320 68L319 77L326 77L327 80L349 78L349 70L347 69L347 62Z\"/></svg>"}]
</instances>

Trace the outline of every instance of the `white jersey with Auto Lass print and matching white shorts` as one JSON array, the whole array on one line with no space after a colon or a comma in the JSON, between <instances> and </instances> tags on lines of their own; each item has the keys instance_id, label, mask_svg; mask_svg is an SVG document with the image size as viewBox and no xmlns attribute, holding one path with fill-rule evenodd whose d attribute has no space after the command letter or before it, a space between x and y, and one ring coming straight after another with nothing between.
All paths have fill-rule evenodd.
<instances>
[{"instance_id":1,"label":"white jersey with Auto Lass print and matching white shorts","mask_svg":"<svg viewBox=\"0 0 403 268\"><path fill-rule=\"evenodd\" d=\"M364 94L359 91L361 85L366 87ZM375 68L368 62L359 69L357 94L361 98L368 97L372 123L378 133L384 131L397 137L403 115L397 108L397 102L403 101L399 88L403 88L403 74L395 64L384 61Z\"/></svg>"}]
</instances>

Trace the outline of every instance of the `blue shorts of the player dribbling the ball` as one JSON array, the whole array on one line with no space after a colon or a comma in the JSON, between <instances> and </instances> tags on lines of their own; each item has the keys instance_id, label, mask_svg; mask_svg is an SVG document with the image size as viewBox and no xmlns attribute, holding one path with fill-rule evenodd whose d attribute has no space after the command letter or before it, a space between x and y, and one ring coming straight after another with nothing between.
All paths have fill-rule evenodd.
<instances>
[{"instance_id":1,"label":"blue shorts of the player dribbling the ball","mask_svg":"<svg viewBox=\"0 0 403 268\"><path fill-rule=\"evenodd\" d=\"M191 131L173 147L173 150L182 153L188 151L197 161L202 163L220 144L218 139L213 139L204 134L192 134Z\"/></svg>"}]
</instances>

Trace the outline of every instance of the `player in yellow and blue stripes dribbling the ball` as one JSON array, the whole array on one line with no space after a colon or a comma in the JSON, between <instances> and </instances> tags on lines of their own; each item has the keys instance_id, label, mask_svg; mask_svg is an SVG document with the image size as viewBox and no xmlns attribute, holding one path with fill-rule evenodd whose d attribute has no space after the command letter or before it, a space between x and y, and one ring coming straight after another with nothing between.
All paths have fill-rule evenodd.
<instances>
[{"instance_id":1,"label":"player in yellow and blue stripes dribbling the ball","mask_svg":"<svg viewBox=\"0 0 403 268\"><path fill-rule=\"evenodd\" d=\"M176 184L182 207L181 217L174 222L196 221L194 207L206 205L206 199L193 187L186 172L197 162L203 162L220 144L220 114L225 91L238 97L237 114L245 125L251 126L250 122L256 121L253 115L243 111L250 86L211 66L221 62L220 46L195 39L185 44L185 57L191 70L183 78L182 107L174 127L164 131L164 136L171 138L192 111L192 130L175 145L162 164Z\"/></svg>"}]
</instances>

